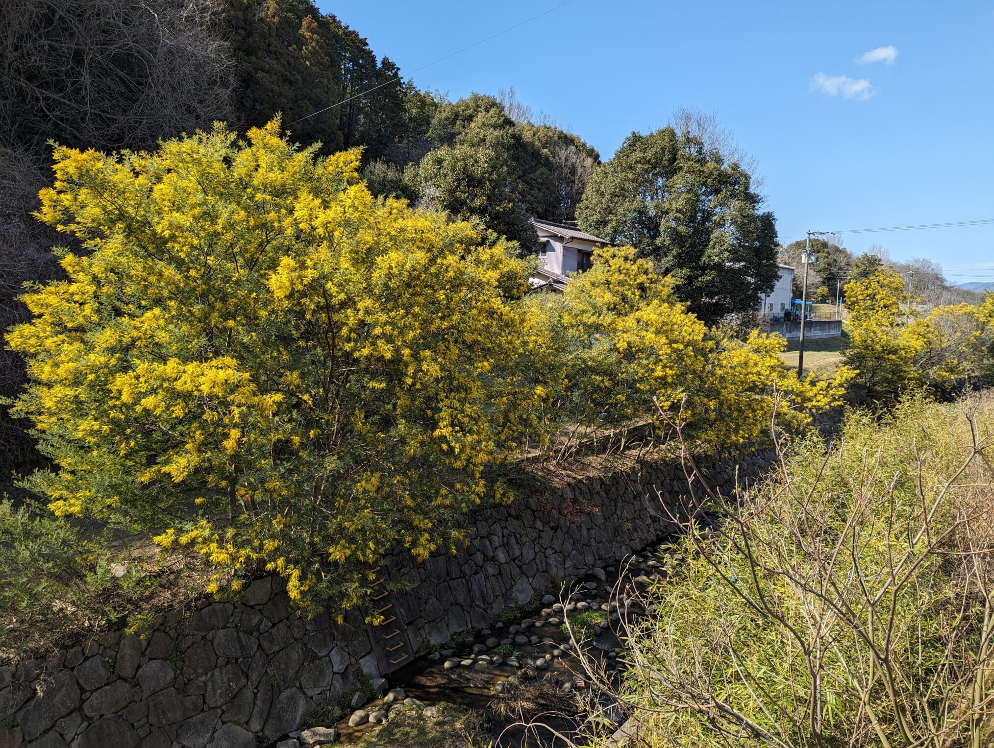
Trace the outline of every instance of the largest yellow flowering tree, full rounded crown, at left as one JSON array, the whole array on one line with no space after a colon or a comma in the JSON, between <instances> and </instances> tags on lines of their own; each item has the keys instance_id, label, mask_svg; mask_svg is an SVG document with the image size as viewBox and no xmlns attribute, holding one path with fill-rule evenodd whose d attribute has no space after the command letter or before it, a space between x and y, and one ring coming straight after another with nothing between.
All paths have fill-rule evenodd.
<instances>
[{"instance_id":1,"label":"largest yellow flowering tree, full rounded crown, at left","mask_svg":"<svg viewBox=\"0 0 994 748\"><path fill-rule=\"evenodd\" d=\"M60 516L158 528L217 568L262 563L292 598L361 599L401 543L459 539L538 433L521 366L528 266L468 224L377 201L358 151L316 159L218 126L154 153L58 148L40 218L75 234L66 279L8 336L16 402L55 467Z\"/></svg>"}]
</instances>

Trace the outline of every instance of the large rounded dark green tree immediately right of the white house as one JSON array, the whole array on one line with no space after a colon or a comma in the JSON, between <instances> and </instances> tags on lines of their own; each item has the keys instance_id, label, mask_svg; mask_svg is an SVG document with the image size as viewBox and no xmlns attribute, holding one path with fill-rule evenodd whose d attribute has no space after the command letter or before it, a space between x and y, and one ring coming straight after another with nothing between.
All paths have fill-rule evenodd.
<instances>
[{"instance_id":1,"label":"large rounded dark green tree immediately right of the white house","mask_svg":"<svg viewBox=\"0 0 994 748\"><path fill-rule=\"evenodd\" d=\"M741 164L664 127L625 139L594 172L577 219L653 258L691 311L715 323L753 311L776 282L776 229L761 205Z\"/></svg>"}]
</instances>

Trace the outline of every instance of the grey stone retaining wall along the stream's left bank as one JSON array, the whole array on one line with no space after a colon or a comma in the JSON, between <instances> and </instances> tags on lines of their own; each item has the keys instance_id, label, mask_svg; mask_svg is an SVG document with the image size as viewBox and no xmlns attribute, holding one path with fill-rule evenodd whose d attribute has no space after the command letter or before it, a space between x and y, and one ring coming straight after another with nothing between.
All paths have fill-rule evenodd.
<instances>
[{"instance_id":1,"label":"grey stone retaining wall along the stream's left bank","mask_svg":"<svg viewBox=\"0 0 994 748\"><path fill-rule=\"evenodd\" d=\"M699 465L719 491L759 474L769 455ZM398 554L380 572L388 623L292 613L278 579L236 602L204 600L145 638L111 632L45 661L0 668L0 748L254 748L363 675L381 678L509 607L558 589L676 529L686 506L676 465L643 466L535 492L468 519L469 545L422 564ZM403 582L401 585L396 583ZM391 591L393 588L394 591ZM399 591L403 590L403 591Z\"/></svg>"}]
</instances>

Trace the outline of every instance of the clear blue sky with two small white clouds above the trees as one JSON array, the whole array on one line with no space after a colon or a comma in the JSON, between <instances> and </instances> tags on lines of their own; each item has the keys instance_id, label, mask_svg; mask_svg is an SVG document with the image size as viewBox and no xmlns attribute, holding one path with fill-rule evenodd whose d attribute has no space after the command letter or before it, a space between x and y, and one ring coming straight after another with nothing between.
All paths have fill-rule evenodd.
<instances>
[{"instance_id":1,"label":"clear blue sky with two small white clouds above the trees","mask_svg":"<svg viewBox=\"0 0 994 748\"><path fill-rule=\"evenodd\" d=\"M318 5L407 75L561 2ZM603 159L675 106L715 113L757 160L789 241L807 228L994 219L992 42L994 0L573 0L414 82L451 98L514 86ZM845 236L857 252L875 242L939 262L954 282L994 279L994 224Z\"/></svg>"}]
</instances>

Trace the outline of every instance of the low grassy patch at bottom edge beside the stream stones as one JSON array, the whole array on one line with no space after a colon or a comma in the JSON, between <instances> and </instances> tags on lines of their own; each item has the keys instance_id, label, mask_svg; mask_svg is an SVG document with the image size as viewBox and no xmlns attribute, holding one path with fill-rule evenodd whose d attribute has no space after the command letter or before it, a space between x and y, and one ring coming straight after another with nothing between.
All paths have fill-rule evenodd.
<instances>
[{"instance_id":1,"label":"low grassy patch at bottom edge beside the stream stones","mask_svg":"<svg viewBox=\"0 0 994 748\"><path fill-rule=\"evenodd\" d=\"M404 748L470 748L486 745L482 738L480 712L449 703L437 705L438 715L424 716L419 707L398 706L383 725L370 730L359 741L360 748L378 745ZM446 717L452 717L448 722Z\"/></svg>"}]
</instances>

